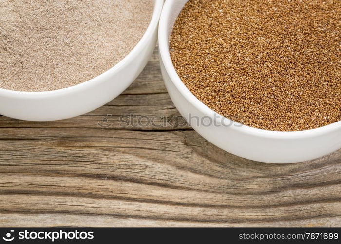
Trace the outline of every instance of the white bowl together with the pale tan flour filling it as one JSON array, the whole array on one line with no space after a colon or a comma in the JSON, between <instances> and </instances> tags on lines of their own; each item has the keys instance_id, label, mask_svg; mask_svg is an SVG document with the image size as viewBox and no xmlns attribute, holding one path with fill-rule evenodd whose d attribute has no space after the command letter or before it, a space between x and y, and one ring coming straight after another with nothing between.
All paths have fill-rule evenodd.
<instances>
[{"instance_id":1,"label":"white bowl together with the pale tan flour filling it","mask_svg":"<svg viewBox=\"0 0 341 244\"><path fill-rule=\"evenodd\" d=\"M75 117L110 102L147 64L163 0L0 1L0 114Z\"/></svg>"}]
</instances>

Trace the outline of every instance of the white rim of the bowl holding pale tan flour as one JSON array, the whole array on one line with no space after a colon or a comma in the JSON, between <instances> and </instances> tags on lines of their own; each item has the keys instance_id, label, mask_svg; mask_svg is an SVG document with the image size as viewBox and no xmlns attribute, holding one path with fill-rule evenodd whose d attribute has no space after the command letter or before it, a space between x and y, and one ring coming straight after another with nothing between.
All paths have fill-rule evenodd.
<instances>
[{"instance_id":1,"label":"white rim of the bowl holding pale tan flour","mask_svg":"<svg viewBox=\"0 0 341 244\"><path fill-rule=\"evenodd\" d=\"M15 90L8 90L4 88L0 88L0 96L5 97L11 97L11 98L25 98L25 99L35 99L35 98L46 98L46 97L52 97L52 96L58 96L63 95L66 93L72 93L79 90L84 90L91 88L93 86L96 86L100 84L102 81L106 80L107 78L110 78L115 73L118 73L120 70L125 68L127 65L129 65L132 61L135 60L135 57L139 55L141 50L148 44L150 37L152 37L155 28L157 28L157 25L159 23L160 15L162 12L163 7L163 1L164 0L154 0L154 6L153 6L153 13L152 18L149 22L149 25L143 34L140 41L134 46L134 48L130 51L130 53L124 57L121 61L116 63L113 67L109 68L107 71L103 72L102 74L88 80L81 82L79 84L57 89L57 90L51 90L51 91L15 91Z\"/></svg>"}]
</instances>

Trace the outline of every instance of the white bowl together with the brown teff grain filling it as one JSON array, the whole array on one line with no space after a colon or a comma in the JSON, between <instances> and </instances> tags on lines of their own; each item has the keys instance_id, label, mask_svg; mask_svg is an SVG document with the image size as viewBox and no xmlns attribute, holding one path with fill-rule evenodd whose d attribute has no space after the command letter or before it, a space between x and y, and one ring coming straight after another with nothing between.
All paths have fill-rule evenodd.
<instances>
[{"instance_id":1,"label":"white bowl together with the brown teff grain filling it","mask_svg":"<svg viewBox=\"0 0 341 244\"><path fill-rule=\"evenodd\" d=\"M341 148L341 1L166 0L170 97L205 139L296 163Z\"/></svg>"}]
</instances>

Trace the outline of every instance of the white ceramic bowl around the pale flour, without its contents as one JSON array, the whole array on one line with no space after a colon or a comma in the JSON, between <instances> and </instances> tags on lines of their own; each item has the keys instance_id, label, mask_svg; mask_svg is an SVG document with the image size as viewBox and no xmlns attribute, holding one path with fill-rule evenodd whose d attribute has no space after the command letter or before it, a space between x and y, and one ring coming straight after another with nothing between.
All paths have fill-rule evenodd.
<instances>
[{"instance_id":1,"label":"white ceramic bowl around the pale flour, without its contents","mask_svg":"<svg viewBox=\"0 0 341 244\"><path fill-rule=\"evenodd\" d=\"M163 0L153 0L152 20L144 36L122 61L105 73L65 89L19 92L0 89L0 114L29 121L53 121L90 112L122 93L141 73L157 41Z\"/></svg>"}]
</instances>

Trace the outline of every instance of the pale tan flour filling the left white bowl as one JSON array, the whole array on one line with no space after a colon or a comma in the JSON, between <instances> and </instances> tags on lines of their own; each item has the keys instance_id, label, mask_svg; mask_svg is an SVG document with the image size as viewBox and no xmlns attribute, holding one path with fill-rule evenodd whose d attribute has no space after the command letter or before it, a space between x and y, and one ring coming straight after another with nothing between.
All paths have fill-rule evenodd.
<instances>
[{"instance_id":1,"label":"pale tan flour filling the left white bowl","mask_svg":"<svg viewBox=\"0 0 341 244\"><path fill-rule=\"evenodd\" d=\"M138 43L152 10L152 0L0 0L0 88L50 91L100 75Z\"/></svg>"}]
</instances>

